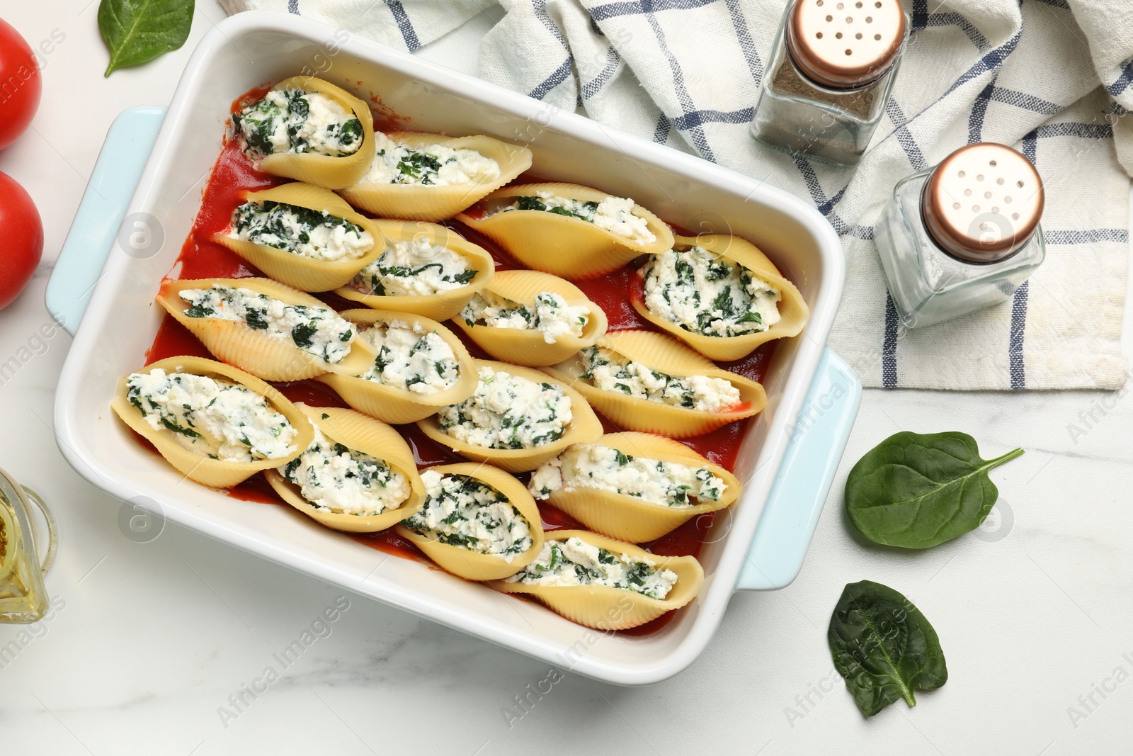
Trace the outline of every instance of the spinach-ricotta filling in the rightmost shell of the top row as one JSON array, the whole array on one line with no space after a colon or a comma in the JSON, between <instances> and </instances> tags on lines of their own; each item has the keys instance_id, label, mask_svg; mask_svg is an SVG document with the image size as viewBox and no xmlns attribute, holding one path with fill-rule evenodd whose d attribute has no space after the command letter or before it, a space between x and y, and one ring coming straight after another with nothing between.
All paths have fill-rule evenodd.
<instances>
[{"instance_id":1,"label":"spinach-ricotta filling in the rightmost shell of the top row","mask_svg":"<svg viewBox=\"0 0 1133 756\"><path fill-rule=\"evenodd\" d=\"M701 247L650 255L641 273L646 307L685 331L742 335L780 321L783 295L774 284Z\"/></svg>"}]
</instances>

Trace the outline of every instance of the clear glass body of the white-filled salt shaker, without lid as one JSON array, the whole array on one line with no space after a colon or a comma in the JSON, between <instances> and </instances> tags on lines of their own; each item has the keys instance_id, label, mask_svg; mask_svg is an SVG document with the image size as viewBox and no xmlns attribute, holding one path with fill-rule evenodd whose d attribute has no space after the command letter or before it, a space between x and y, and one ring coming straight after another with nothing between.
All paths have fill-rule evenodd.
<instances>
[{"instance_id":1,"label":"clear glass body of the white-filled salt shaker, without lid","mask_svg":"<svg viewBox=\"0 0 1133 756\"><path fill-rule=\"evenodd\" d=\"M921 328L1007 301L1042 263L1042 228L1011 256L995 262L959 260L926 228L922 199L935 169L900 181L875 227L877 250L901 322Z\"/></svg>"}]
</instances>

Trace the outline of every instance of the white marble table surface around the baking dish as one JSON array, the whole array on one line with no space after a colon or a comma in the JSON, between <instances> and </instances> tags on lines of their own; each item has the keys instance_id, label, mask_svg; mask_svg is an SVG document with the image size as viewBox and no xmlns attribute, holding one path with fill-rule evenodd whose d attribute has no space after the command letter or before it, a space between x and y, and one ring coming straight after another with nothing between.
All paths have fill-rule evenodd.
<instances>
[{"instance_id":1,"label":"white marble table surface around the baking dish","mask_svg":"<svg viewBox=\"0 0 1133 756\"><path fill-rule=\"evenodd\" d=\"M167 103L194 44L223 17L215 0L198 0L184 49L103 79L96 7L10 0L0 10L33 45L52 29L66 35L46 57L34 130L0 152L46 230L43 265L0 312L0 362L50 321L44 287L110 121ZM421 54L472 70L489 24L482 17ZM1130 331L1126 318L1126 350ZM127 538L119 502L79 478L52 438L68 346L54 335L0 385L0 465L51 502L60 527L48 588L61 606L0 660L6 754L1130 751L1133 400L1123 396L867 391L798 580L738 594L705 654L666 682L628 689L568 676L509 727L501 708L547 676L545 663L346 594L333 634L222 721L229 697L343 592L174 525L150 543ZM1072 438L1067 426L1102 401L1113 408ZM966 431L986 457L1025 447L993 474L1010 517L922 553L855 540L845 475L898 430ZM917 602L951 674L915 708L898 703L868 721L826 647L843 585L863 578ZM0 626L0 647L19 630Z\"/></svg>"}]
</instances>

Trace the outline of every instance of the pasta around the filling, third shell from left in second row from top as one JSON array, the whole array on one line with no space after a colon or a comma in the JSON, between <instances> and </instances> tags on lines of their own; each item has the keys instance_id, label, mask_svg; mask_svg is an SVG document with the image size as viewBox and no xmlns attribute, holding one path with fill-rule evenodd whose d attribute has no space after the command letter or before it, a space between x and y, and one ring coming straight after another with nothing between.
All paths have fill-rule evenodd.
<instances>
[{"instance_id":1,"label":"pasta around the filling, third shell from left in second row from top","mask_svg":"<svg viewBox=\"0 0 1133 756\"><path fill-rule=\"evenodd\" d=\"M597 343L606 332L606 313L590 301L577 286L550 273L538 271L502 271L484 287L485 291L511 299L528 307L535 306L535 297L544 291L562 296L569 307L585 306L590 316L582 326L582 335L560 335L554 343L547 343L543 331L535 329L493 328L469 325L458 313L452 322L479 347L495 357L516 365L539 367L554 365L566 359L579 349Z\"/></svg>"}]
</instances>

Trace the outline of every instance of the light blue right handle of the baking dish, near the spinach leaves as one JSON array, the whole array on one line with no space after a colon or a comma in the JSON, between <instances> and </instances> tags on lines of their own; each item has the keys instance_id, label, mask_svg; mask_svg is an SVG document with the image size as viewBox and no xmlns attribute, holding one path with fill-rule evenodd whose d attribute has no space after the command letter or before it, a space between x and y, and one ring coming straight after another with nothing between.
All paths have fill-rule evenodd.
<instances>
[{"instance_id":1,"label":"light blue right handle of the baking dish, near the spinach leaves","mask_svg":"<svg viewBox=\"0 0 1133 756\"><path fill-rule=\"evenodd\" d=\"M759 517L736 588L785 588L799 576L860 406L861 381L827 348Z\"/></svg>"}]
</instances>

